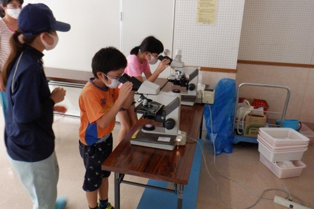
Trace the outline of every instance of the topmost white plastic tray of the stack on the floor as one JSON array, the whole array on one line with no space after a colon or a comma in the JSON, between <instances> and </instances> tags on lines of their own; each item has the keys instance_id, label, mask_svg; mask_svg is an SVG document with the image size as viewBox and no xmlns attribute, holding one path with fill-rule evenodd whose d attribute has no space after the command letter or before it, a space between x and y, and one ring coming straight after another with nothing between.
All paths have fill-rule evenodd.
<instances>
[{"instance_id":1,"label":"topmost white plastic tray of the stack on the floor","mask_svg":"<svg viewBox=\"0 0 314 209\"><path fill-rule=\"evenodd\" d=\"M292 128L260 128L259 131L268 139L278 143L298 143L309 141L307 137Z\"/></svg>"}]
</instances>

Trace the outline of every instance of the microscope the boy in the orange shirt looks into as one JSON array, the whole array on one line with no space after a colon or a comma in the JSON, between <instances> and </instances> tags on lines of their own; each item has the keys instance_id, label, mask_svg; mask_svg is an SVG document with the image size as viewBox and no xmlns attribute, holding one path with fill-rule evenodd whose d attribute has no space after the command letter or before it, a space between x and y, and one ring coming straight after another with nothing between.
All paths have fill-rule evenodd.
<instances>
[{"instance_id":1,"label":"microscope the boy in the orange shirt looks into","mask_svg":"<svg viewBox=\"0 0 314 209\"><path fill-rule=\"evenodd\" d=\"M133 90L140 94L140 104L135 108L136 113L143 118L162 123L162 126L146 124L141 126L133 135L130 142L133 145L173 150L177 145L185 145L186 133L179 130L181 95L173 92L161 92L160 86L123 74L119 79L125 83L133 83Z\"/></svg>"}]
</instances>

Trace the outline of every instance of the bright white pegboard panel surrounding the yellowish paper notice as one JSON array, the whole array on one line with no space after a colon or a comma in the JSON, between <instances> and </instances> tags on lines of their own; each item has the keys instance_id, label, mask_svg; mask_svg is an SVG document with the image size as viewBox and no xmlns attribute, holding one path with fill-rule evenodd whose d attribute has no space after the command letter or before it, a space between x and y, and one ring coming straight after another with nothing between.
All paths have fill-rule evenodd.
<instances>
[{"instance_id":1,"label":"bright white pegboard panel surrounding the yellowish paper notice","mask_svg":"<svg viewBox=\"0 0 314 209\"><path fill-rule=\"evenodd\" d=\"M236 69L244 0L218 0L213 25L196 24L197 3L176 0L174 52L182 50L186 65Z\"/></svg>"}]
</instances>

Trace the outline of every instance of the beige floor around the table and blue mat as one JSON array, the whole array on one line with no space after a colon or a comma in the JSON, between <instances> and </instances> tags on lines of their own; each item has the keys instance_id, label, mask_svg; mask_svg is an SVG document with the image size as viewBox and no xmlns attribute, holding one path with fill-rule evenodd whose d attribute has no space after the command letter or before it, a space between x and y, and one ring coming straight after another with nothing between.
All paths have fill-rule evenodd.
<instances>
[{"instance_id":1,"label":"beige floor around the table and blue mat","mask_svg":"<svg viewBox=\"0 0 314 209\"><path fill-rule=\"evenodd\" d=\"M78 153L79 120L66 117L56 117L53 125L56 134L56 153L60 166L58 193L68 198L67 209L87 209L84 191L81 189L84 167ZM30 198L19 182L15 171L11 168L6 154L3 140L3 116L0 115L0 209L31 208ZM116 136L119 125L116 125L113 136ZM114 137L115 138L115 137ZM116 146L116 143L114 143ZM219 194L226 204L233 208L251 206L257 197L246 190L220 176L213 166L213 149L208 141L204 144L204 153L207 164L214 178L219 181ZM235 145L232 154L221 154L216 158L217 167L226 175L234 178L252 191L261 194L269 188L283 189L283 184L291 194L299 196L307 206L314 207L314 146L309 146L302 161L306 164L300 177L278 179L262 163L259 162L259 153L256 144ZM126 176L126 179L146 183L147 179ZM109 200L114 203L113 175L110 177ZM121 208L133 209L137 207L143 189L131 185L121 185ZM281 192L269 192L284 196ZM156 197L158 198L158 197ZM227 208L219 201L216 194L216 185L208 176L204 162L201 167L200 184L198 189L197 208L224 209ZM261 200L253 208L284 208L271 200Z\"/></svg>"}]
</instances>

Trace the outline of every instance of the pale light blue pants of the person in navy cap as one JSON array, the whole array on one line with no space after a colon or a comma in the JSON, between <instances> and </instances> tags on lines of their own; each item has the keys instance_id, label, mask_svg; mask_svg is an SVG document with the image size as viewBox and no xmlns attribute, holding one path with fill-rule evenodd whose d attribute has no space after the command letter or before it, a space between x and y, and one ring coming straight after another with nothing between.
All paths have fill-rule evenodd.
<instances>
[{"instance_id":1,"label":"pale light blue pants of the person in navy cap","mask_svg":"<svg viewBox=\"0 0 314 209\"><path fill-rule=\"evenodd\" d=\"M34 163L9 159L32 199L33 209L54 209L59 178L56 153L53 152L49 158Z\"/></svg>"}]
</instances>

